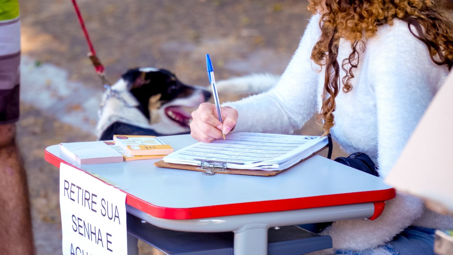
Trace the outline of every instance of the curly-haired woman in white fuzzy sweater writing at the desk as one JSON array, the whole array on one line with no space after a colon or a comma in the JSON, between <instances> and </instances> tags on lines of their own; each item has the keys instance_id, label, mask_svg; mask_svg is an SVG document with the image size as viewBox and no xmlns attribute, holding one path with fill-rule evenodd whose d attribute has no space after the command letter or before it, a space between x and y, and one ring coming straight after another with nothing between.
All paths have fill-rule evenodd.
<instances>
[{"instance_id":1,"label":"curly-haired woman in white fuzzy sweater writing at the desk","mask_svg":"<svg viewBox=\"0 0 453 255\"><path fill-rule=\"evenodd\" d=\"M314 15L276 86L225 103L223 124L202 104L192 136L292 133L318 113L325 134L366 153L386 177L452 68L453 24L436 1L309 0ZM375 221L333 222L322 231L333 249L317 254L431 255L439 228L453 228L453 218L398 194Z\"/></svg>"}]
</instances>

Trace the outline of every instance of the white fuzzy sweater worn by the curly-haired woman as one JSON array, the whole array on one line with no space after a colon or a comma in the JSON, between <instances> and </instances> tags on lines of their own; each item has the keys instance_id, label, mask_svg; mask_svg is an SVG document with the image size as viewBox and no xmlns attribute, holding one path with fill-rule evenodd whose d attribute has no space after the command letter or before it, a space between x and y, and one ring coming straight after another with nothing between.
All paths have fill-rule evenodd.
<instances>
[{"instance_id":1,"label":"white fuzzy sweater worn by the curly-haired woman","mask_svg":"<svg viewBox=\"0 0 453 255\"><path fill-rule=\"evenodd\" d=\"M319 18L314 15L310 20L274 88L224 104L239 112L234 132L292 133L320 110L324 69L310 59L320 36ZM342 39L338 62L350 52L351 44ZM367 40L354 74L352 91L340 92L336 98L332 137L348 153L368 154L379 166L380 176L386 177L447 77L448 68L434 64L426 45L410 33L407 23L395 20L392 26L379 27ZM344 75L341 71L340 77ZM418 198L399 194L387 202L375 221L337 221L323 234L332 236L334 249L366 250L383 245L411 224L453 228L453 218L427 210ZM328 253L333 252L323 252Z\"/></svg>"}]
</instances>

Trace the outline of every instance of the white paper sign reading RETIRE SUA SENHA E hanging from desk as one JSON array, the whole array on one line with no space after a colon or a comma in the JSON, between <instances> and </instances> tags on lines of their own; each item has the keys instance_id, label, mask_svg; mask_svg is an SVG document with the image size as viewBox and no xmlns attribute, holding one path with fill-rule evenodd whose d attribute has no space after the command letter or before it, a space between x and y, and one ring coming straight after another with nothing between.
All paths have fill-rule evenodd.
<instances>
[{"instance_id":1,"label":"white paper sign reading RETIRE SUA SENHA E hanging from desk","mask_svg":"<svg viewBox=\"0 0 453 255\"><path fill-rule=\"evenodd\" d=\"M63 255L127 254L126 194L60 164Z\"/></svg>"}]
</instances>

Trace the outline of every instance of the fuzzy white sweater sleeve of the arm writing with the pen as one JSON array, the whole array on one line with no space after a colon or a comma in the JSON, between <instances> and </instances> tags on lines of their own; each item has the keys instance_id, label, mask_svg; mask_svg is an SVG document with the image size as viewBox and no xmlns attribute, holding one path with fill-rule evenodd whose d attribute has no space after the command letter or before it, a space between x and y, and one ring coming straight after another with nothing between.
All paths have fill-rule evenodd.
<instances>
[{"instance_id":1,"label":"fuzzy white sweater sleeve of the arm writing with the pen","mask_svg":"<svg viewBox=\"0 0 453 255\"><path fill-rule=\"evenodd\" d=\"M311 18L299 48L274 88L222 105L235 108L239 113L234 132L292 133L313 116L318 103L317 77L321 67L314 64L310 56L320 35L319 19L320 15Z\"/></svg>"}]
</instances>

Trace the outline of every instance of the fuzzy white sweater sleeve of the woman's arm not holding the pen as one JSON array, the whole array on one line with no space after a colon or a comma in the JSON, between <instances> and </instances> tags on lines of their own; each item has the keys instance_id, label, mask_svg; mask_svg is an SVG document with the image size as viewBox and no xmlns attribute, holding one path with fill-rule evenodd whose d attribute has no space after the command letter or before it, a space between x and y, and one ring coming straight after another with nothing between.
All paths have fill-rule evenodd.
<instances>
[{"instance_id":1,"label":"fuzzy white sweater sleeve of the woman's arm not holding the pen","mask_svg":"<svg viewBox=\"0 0 453 255\"><path fill-rule=\"evenodd\" d=\"M398 159L447 69L432 62L426 46L410 34L406 23L397 22L402 21L382 28L376 39L369 41L364 63L376 97L378 172L382 178ZM421 216L423 208L419 198L397 194L387 201L383 214L376 220L336 221L323 235L332 236L334 250L373 249L410 226ZM329 252L333 253L318 254Z\"/></svg>"}]
</instances>

